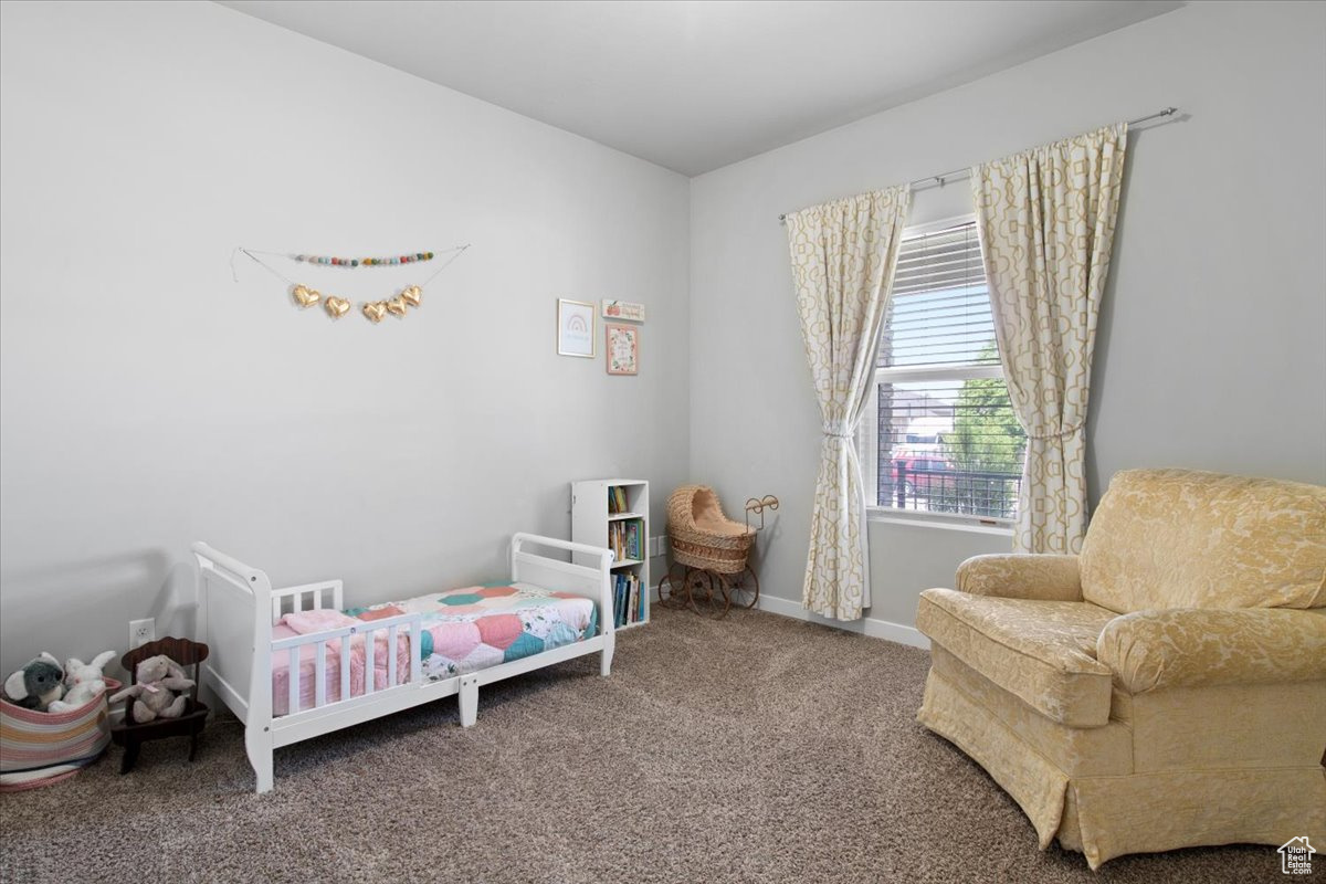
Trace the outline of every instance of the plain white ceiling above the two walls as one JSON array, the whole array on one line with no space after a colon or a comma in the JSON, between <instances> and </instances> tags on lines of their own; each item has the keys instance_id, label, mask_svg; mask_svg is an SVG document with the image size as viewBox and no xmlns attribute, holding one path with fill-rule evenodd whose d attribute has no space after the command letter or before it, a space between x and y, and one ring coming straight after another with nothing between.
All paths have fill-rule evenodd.
<instances>
[{"instance_id":1,"label":"plain white ceiling above the two walls","mask_svg":"<svg viewBox=\"0 0 1326 884\"><path fill-rule=\"evenodd\" d=\"M1097 37L1139 0L219 0L699 175Z\"/></svg>"}]
</instances>

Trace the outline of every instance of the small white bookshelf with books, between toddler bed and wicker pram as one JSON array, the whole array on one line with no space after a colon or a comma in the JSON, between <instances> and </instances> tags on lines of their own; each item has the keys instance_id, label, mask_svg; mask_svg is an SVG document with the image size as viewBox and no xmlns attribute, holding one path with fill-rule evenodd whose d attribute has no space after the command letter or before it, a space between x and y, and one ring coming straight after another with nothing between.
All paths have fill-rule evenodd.
<instances>
[{"instance_id":1,"label":"small white bookshelf with books, between toddler bed and wicker pram","mask_svg":"<svg viewBox=\"0 0 1326 884\"><path fill-rule=\"evenodd\" d=\"M626 496L626 508L617 512L609 505L609 489L621 488ZM634 527L633 527L634 526ZM639 547L639 558L623 554L613 559L613 574L634 577L636 580L638 606L627 622L618 623L618 630L644 626L650 622L650 484L639 478L590 478L572 482L572 539L577 543L606 546L614 549L613 538L621 533L626 537L634 530ZM622 545L618 543L618 547ZM614 550L614 553L618 550ZM593 565L589 557L573 555L577 565ZM601 612L606 619L613 611Z\"/></svg>"}]
</instances>

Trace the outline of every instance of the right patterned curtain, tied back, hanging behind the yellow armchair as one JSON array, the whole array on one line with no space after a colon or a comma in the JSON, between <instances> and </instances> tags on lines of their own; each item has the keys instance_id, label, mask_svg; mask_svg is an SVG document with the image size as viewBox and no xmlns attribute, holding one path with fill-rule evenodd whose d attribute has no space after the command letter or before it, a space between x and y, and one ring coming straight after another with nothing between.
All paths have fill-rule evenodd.
<instances>
[{"instance_id":1,"label":"right patterned curtain, tied back, hanging behind the yellow armchair","mask_svg":"<svg viewBox=\"0 0 1326 884\"><path fill-rule=\"evenodd\" d=\"M1026 463L1013 549L1077 553L1086 534L1086 406L1127 126L972 170L994 335Z\"/></svg>"}]
</instances>

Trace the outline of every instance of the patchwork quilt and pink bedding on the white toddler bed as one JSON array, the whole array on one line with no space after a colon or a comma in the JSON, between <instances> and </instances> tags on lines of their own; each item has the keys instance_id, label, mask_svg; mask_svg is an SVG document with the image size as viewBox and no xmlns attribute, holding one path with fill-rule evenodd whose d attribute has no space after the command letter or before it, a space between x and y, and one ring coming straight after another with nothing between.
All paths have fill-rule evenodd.
<instances>
[{"instance_id":1,"label":"patchwork quilt and pink bedding on the white toddler bed","mask_svg":"<svg viewBox=\"0 0 1326 884\"><path fill-rule=\"evenodd\" d=\"M273 639L309 635L400 614L419 614L418 643L406 630L396 635L396 684L410 680L411 647L418 644L424 677L430 680L476 672L501 663L591 639L598 632L598 606L570 592L554 592L530 583L487 583L430 592L404 602L383 602L346 611L286 614L272 628ZM374 636L374 689L387 687L387 631ZM363 693L365 636L350 640L350 696ZM290 653L272 657L272 714L290 708ZM316 645L300 649L298 708L312 709L316 692ZM341 698L341 641L328 641L326 701Z\"/></svg>"}]
</instances>

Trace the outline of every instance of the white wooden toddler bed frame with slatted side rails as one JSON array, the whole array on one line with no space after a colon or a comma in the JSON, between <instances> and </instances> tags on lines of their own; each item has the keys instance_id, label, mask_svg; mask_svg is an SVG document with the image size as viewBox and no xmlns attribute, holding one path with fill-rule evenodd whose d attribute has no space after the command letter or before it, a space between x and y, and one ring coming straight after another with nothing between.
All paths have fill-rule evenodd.
<instances>
[{"instance_id":1,"label":"white wooden toddler bed frame with slatted side rails","mask_svg":"<svg viewBox=\"0 0 1326 884\"><path fill-rule=\"evenodd\" d=\"M587 559L577 558L598 565L573 565L532 553L529 546L583 553ZM210 648L202 665L203 688L244 722L244 746L259 793L272 789L272 754L280 746L452 694L459 694L460 724L468 728L477 714L480 685L587 653L602 653L603 676L611 671L613 553L607 549L534 534L512 537L511 584L541 595L589 599L597 607L597 628L586 631L591 637L450 677L423 671L415 641L423 639L424 649L431 641L419 612L290 635L292 630L278 624L292 616L332 616L343 608L341 580L273 590L265 573L236 558L206 543L194 543L192 550L199 565L198 640ZM317 622L317 616L304 619ZM374 664L375 653L386 659L385 665ZM351 661L361 668L354 684ZM273 697L274 671L281 676L277 683L289 691L282 704ZM301 685L301 673L305 680L312 676L312 692L306 681Z\"/></svg>"}]
</instances>

